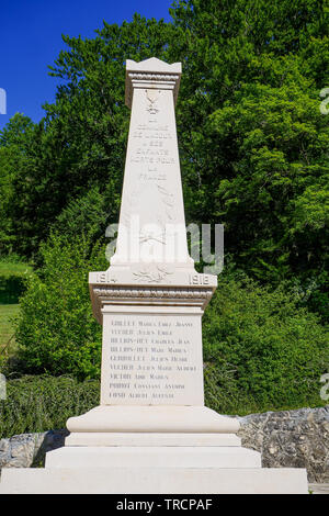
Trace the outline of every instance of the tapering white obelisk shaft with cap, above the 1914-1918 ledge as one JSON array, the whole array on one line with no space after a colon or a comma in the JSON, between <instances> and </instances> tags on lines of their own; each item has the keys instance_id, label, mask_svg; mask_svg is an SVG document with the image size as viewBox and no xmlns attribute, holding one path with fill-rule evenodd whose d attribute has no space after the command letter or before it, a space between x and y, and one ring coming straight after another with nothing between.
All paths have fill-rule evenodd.
<instances>
[{"instance_id":1,"label":"tapering white obelisk shaft with cap, above the 1914-1918 ledge","mask_svg":"<svg viewBox=\"0 0 329 516\"><path fill-rule=\"evenodd\" d=\"M188 251L174 117L173 92L180 69L180 64L167 65L159 59L126 64L132 115L111 269L114 273L116 267L132 270L137 282L149 282L152 277L157 281L177 267L194 272Z\"/></svg>"}]
</instances>

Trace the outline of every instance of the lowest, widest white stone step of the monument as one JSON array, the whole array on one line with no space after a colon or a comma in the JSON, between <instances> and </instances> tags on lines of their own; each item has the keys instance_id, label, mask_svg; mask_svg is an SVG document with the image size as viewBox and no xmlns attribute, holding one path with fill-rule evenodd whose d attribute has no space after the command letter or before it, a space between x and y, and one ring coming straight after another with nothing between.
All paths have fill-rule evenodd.
<instances>
[{"instance_id":1,"label":"lowest, widest white stone step of the monument","mask_svg":"<svg viewBox=\"0 0 329 516\"><path fill-rule=\"evenodd\" d=\"M2 470L0 494L307 494L303 469L46 468Z\"/></svg>"}]
</instances>

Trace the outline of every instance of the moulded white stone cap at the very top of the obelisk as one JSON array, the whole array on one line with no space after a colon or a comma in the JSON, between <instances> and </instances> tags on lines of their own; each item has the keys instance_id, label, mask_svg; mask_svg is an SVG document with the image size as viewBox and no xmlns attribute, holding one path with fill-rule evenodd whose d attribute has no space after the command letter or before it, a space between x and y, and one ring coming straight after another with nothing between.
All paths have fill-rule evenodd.
<instances>
[{"instance_id":1,"label":"moulded white stone cap at the very top of the obelisk","mask_svg":"<svg viewBox=\"0 0 329 516\"><path fill-rule=\"evenodd\" d=\"M171 85L173 89L173 100L177 102L180 79L182 75L182 64L173 63L168 65L157 57L136 63L133 59L126 60L126 92L125 103L132 108L132 92L137 85L145 87L156 86L161 89L166 85Z\"/></svg>"}]
</instances>

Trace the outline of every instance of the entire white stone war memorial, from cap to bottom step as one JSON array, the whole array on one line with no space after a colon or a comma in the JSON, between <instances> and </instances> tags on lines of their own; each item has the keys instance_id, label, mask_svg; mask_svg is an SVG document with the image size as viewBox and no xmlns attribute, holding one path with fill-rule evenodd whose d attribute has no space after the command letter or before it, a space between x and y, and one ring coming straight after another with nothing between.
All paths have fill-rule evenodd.
<instances>
[{"instance_id":1,"label":"entire white stone war memorial, from cap to bottom step","mask_svg":"<svg viewBox=\"0 0 329 516\"><path fill-rule=\"evenodd\" d=\"M262 469L237 418L204 406L201 319L217 278L189 256L174 104L181 64L126 63L132 109L116 251L89 277L103 326L101 404L67 422L45 469L2 471L12 493L307 493L306 471Z\"/></svg>"}]
</instances>

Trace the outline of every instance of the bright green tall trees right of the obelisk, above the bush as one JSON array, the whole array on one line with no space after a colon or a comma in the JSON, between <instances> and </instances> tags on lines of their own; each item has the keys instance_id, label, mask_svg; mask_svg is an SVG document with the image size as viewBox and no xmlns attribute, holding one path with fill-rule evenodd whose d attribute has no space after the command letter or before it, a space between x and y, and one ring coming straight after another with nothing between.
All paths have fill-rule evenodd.
<instances>
[{"instance_id":1,"label":"bright green tall trees right of the obelisk, above the bush","mask_svg":"<svg viewBox=\"0 0 329 516\"><path fill-rule=\"evenodd\" d=\"M193 0L171 14L188 220L223 223L226 254L254 278L309 282L328 267L328 10Z\"/></svg>"}]
</instances>

